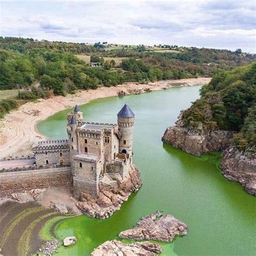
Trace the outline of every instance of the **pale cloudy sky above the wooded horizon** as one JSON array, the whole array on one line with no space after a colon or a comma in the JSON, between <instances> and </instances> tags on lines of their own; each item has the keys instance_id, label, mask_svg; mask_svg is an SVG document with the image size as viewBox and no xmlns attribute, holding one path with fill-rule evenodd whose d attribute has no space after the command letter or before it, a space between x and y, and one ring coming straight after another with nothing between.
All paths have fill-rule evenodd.
<instances>
[{"instance_id":1,"label":"pale cloudy sky above the wooded horizon","mask_svg":"<svg viewBox=\"0 0 256 256\"><path fill-rule=\"evenodd\" d=\"M256 52L255 0L4 1L0 35Z\"/></svg>"}]
</instances>

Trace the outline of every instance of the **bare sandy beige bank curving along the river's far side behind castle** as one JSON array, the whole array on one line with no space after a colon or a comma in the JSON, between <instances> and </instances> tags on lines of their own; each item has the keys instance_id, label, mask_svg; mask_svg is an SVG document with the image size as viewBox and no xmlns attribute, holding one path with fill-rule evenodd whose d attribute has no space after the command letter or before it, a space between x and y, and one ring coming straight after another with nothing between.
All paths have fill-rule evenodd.
<instances>
[{"instance_id":1,"label":"bare sandy beige bank curving along the river's far side behind castle","mask_svg":"<svg viewBox=\"0 0 256 256\"><path fill-rule=\"evenodd\" d=\"M99 87L96 90L79 90L75 95L54 96L28 102L17 110L11 111L0 124L0 159L4 157L21 157L31 155L32 144L38 140L48 139L37 130L38 122L53 114L69 109L76 104L83 105L91 100L140 94L181 86L198 86L209 83L211 78L187 78L178 80L161 80L148 84L125 83L112 87Z\"/></svg>"}]
</instances>

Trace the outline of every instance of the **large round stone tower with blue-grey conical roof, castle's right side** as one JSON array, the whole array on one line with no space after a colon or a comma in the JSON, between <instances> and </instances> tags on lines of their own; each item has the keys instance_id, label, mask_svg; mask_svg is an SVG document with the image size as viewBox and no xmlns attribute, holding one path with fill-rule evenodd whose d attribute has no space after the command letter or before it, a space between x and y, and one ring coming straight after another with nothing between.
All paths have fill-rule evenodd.
<instances>
[{"instance_id":1,"label":"large round stone tower with blue-grey conical roof, castle's right side","mask_svg":"<svg viewBox=\"0 0 256 256\"><path fill-rule=\"evenodd\" d=\"M127 153L129 156L132 156L134 116L127 103L125 103L117 114L117 123L121 135L119 153Z\"/></svg>"}]
</instances>

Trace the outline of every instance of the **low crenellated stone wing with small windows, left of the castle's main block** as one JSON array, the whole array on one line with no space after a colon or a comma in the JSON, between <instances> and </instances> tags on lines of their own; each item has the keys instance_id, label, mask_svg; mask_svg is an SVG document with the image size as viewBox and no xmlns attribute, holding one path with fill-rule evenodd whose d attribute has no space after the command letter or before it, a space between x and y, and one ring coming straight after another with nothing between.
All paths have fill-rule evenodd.
<instances>
[{"instance_id":1,"label":"low crenellated stone wing with small windows, left of the castle's main block","mask_svg":"<svg viewBox=\"0 0 256 256\"><path fill-rule=\"evenodd\" d=\"M60 156L60 153L62 156ZM70 153L69 150L58 150L58 151L42 151L35 153L36 165L46 165L46 160L48 164L68 164L70 163Z\"/></svg>"}]
</instances>

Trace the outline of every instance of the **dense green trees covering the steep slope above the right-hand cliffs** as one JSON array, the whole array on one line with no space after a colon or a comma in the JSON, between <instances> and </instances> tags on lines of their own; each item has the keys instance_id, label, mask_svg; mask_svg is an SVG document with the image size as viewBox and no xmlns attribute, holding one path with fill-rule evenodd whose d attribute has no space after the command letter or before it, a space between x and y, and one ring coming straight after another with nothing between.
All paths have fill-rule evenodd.
<instances>
[{"instance_id":1,"label":"dense green trees covering the steep slope above the right-hand cliffs","mask_svg":"<svg viewBox=\"0 0 256 256\"><path fill-rule=\"evenodd\" d=\"M256 152L256 63L221 71L201 88L201 98L183 112L186 126L236 132L232 144Z\"/></svg>"}]
</instances>

